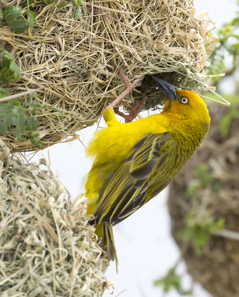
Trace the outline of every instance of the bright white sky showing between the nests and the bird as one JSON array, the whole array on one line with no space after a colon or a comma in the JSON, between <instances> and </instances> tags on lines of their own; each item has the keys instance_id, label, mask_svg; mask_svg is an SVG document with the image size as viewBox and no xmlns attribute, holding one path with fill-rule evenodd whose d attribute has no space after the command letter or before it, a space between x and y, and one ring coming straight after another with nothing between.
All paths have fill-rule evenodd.
<instances>
[{"instance_id":1,"label":"bright white sky showing between the nests and the bird","mask_svg":"<svg viewBox=\"0 0 239 297\"><path fill-rule=\"evenodd\" d=\"M237 11L236 0L194 0L197 14L209 12L212 20L220 27L230 21ZM147 114L144 114L146 116ZM104 125L104 123L102 123ZM81 140L87 146L97 126L79 132ZM53 171L75 198L84 191L84 181L91 168L92 161L84 155L85 148L79 141L62 143L46 149ZM38 152L32 161L41 158ZM114 236L119 259L118 276L115 263L106 273L115 284L113 296L123 292L120 297L162 297L160 288L154 288L153 280L165 275L179 257L178 247L170 235L170 218L167 210L167 189L146 203L136 213L114 227ZM185 271L184 265L179 267ZM185 288L190 288L191 278L184 279ZM106 293L104 297L107 297ZM179 297L175 291L168 297ZM208 297L199 286L193 297Z\"/></svg>"}]
</instances>

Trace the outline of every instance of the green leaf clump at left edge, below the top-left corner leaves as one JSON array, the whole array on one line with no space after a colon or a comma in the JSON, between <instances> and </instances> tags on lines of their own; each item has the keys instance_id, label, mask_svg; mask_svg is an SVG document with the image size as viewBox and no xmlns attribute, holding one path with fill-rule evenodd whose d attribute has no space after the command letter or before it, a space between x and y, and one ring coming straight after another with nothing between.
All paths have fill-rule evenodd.
<instances>
[{"instance_id":1,"label":"green leaf clump at left edge, below the top-left corner leaves","mask_svg":"<svg viewBox=\"0 0 239 297\"><path fill-rule=\"evenodd\" d=\"M0 82L10 83L20 78L20 69L7 50L0 49Z\"/></svg>"}]
</instances>

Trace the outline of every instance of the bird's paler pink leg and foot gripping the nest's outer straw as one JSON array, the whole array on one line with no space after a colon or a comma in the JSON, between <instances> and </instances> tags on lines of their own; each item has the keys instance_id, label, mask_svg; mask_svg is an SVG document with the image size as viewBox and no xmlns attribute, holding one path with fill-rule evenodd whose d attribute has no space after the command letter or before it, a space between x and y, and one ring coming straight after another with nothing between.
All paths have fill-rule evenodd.
<instances>
[{"instance_id":1,"label":"bird's paler pink leg and foot gripping the nest's outer straw","mask_svg":"<svg viewBox=\"0 0 239 297\"><path fill-rule=\"evenodd\" d=\"M124 74L124 71L121 68L119 70L119 75L122 77L123 81L125 82L126 89L119 97L117 97L113 102L111 102L108 106L106 106L104 111L106 109L108 109L108 108L114 108L116 105L119 104L120 101L125 99L125 97L127 95L129 95L136 87L140 87L141 86L141 81L144 78L144 76L140 77L140 78L137 78L136 80L134 80L133 83L131 83L130 80L128 79L128 77Z\"/></svg>"}]
</instances>

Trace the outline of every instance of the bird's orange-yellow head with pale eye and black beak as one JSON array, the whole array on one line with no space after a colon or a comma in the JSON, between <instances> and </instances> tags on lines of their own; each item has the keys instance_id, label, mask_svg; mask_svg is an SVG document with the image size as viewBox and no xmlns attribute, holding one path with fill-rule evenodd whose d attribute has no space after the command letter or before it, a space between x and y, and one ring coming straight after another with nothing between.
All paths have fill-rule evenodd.
<instances>
[{"instance_id":1,"label":"bird's orange-yellow head with pale eye and black beak","mask_svg":"<svg viewBox=\"0 0 239 297\"><path fill-rule=\"evenodd\" d=\"M175 87L160 78L153 78L166 95L162 113L167 114L173 120L189 119L210 123L210 116L206 103L195 92L176 90Z\"/></svg>"}]
</instances>

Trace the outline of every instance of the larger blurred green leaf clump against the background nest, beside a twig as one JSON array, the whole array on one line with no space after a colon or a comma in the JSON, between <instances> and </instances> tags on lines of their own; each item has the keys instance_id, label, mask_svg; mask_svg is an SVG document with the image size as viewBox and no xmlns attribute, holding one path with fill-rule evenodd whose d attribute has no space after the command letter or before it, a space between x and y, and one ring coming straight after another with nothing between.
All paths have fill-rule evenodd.
<instances>
[{"instance_id":1,"label":"larger blurred green leaf clump against the background nest, beside a twig","mask_svg":"<svg viewBox=\"0 0 239 297\"><path fill-rule=\"evenodd\" d=\"M191 208L186 217L185 227L179 233L180 238L186 243L191 243L199 256L211 238L211 232L221 230L225 226L223 217L218 220L213 219L209 211L204 212L200 220L196 216L196 210Z\"/></svg>"}]
</instances>

